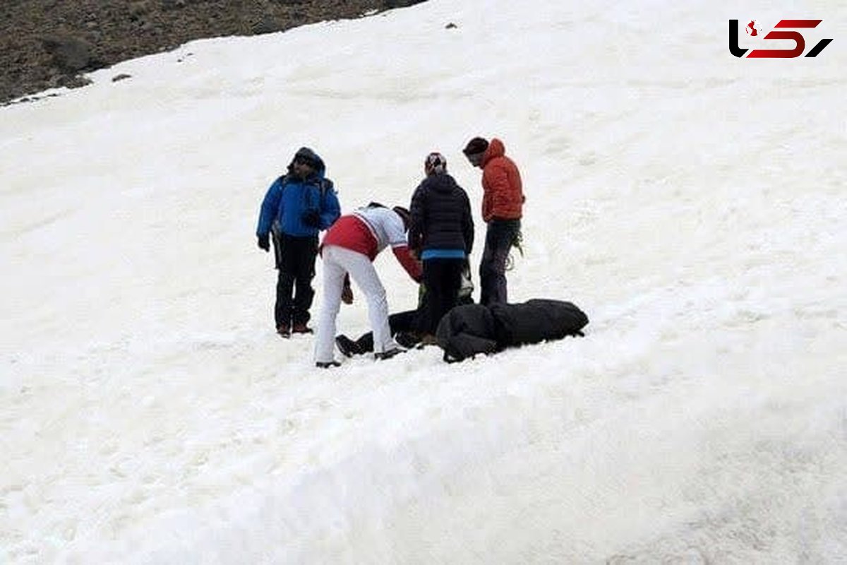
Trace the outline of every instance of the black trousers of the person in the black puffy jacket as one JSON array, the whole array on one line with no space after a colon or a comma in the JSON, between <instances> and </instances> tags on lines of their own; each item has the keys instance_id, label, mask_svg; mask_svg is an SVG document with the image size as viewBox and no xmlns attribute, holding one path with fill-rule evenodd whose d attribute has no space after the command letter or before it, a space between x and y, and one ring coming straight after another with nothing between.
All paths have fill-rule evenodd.
<instances>
[{"instance_id":1,"label":"black trousers of the person in the black puffy jacket","mask_svg":"<svg viewBox=\"0 0 847 565\"><path fill-rule=\"evenodd\" d=\"M426 299L418 308L417 330L421 335L435 335L444 314L456 306L459 286L462 285L464 258L424 259Z\"/></svg>"}]
</instances>

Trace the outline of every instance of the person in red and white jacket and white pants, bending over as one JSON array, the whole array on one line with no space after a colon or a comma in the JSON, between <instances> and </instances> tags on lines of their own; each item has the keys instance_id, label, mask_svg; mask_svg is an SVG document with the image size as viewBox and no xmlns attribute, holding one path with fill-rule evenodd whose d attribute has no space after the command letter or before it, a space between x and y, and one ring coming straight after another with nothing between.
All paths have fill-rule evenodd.
<instances>
[{"instance_id":1,"label":"person in red and white jacket and white pants, bending over","mask_svg":"<svg viewBox=\"0 0 847 565\"><path fill-rule=\"evenodd\" d=\"M403 350L397 346L388 324L388 300L385 287L374 269L374 258L390 246L395 257L415 282L421 280L421 265L412 257L406 241L409 211L396 206L385 208L371 202L364 208L341 216L326 232L321 243L324 262L324 304L318 315L315 364L320 368L338 367L335 349L335 318L340 303L352 302L350 279L364 292L368 318L374 331L374 357L387 359Z\"/></svg>"}]
</instances>

